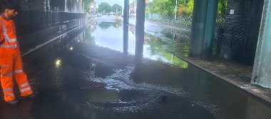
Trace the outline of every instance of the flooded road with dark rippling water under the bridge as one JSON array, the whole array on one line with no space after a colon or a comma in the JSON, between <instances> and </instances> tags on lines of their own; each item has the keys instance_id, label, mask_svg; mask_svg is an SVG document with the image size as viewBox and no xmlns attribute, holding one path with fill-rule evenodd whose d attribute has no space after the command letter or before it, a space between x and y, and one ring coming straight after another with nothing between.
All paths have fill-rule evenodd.
<instances>
[{"instance_id":1,"label":"flooded road with dark rippling water under the bridge","mask_svg":"<svg viewBox=\"0 0 271 119\"><path fill-rule=\"evenodd\" d=\"M16 106L1 100L0 118L271 116L268 105L167 51L168 44L175 43L188 54L189 34L179 32L145 33L139 46L143 56L138 57L134 26L94 22L63 47L48 48L26 63L36 97ZM93 83L106 86L95 88Z\"/></svg>"}]
</instances>

